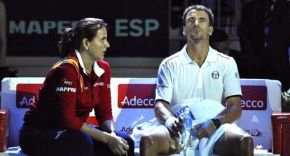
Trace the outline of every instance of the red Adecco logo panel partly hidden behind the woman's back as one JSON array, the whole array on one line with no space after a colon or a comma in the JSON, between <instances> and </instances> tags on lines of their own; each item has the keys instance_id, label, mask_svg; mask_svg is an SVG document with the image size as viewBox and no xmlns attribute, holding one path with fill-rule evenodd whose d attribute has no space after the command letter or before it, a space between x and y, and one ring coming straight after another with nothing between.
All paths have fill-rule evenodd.
<instances>
[{"instance_id":1,"label":"red Adecco logo panel partly hidden behind the woman's back","mask_svg":"<svg viewBox=\"0 0 290 156\"><path fill-rule=\"evenodd\" d=\"M18 84L16 86L16 107L30 108L41 87L42 84Z\"/></svg>"}]
</instances>

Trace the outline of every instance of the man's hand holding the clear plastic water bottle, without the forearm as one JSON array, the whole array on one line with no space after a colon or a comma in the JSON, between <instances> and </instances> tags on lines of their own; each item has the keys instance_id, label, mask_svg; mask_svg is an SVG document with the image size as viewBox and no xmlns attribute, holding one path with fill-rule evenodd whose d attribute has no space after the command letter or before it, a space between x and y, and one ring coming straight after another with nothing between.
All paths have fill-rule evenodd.
<instances>
[{"instance_id":1,"label":"man's hand holding the clear plastic water bottle, without the forearm","mask_svg":"<svg viewBox=\"0 0 290 156\"><path fill-rule=\"evenodd\" d=\"M184 127L184 119L179 116L179 118L175 118L173 116L171 116L170 118L168 118L165 122L165 126L170 129L170 131L176 135L181 134L182 132L184 132L185 127Z\"/></svg>"}]
</instances>

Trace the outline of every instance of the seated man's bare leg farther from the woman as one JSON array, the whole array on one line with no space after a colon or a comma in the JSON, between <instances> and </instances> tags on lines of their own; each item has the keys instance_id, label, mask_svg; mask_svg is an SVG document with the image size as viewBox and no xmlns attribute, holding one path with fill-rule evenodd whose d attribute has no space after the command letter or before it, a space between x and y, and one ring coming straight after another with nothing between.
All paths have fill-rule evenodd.
<instances>
[{"instance_id":1,"label":"seated man's bare leg farther from the woman","mask_svg":"<svg viewBox=\"0 0 290 156\"><path fill-rule=\"evenodd\" d=\"M214 145L216 155L253 156L253 138L240 127L230 127Z\"/></svg>"}]
</instances>

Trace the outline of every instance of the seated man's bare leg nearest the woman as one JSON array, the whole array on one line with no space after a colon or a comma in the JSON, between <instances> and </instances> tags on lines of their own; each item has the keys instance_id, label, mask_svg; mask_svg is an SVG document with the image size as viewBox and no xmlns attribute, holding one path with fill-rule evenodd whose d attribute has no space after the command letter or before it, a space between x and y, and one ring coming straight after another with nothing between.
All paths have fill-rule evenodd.
<instances>
[{"instance_id":1,"label":"seated man's bare leg nearest the woman","mask_svg":"<svg viewBox=\"0 0 290 156\"><path fill-rule=\"evenodd\" d=\"M141 136L140 156L171 155L181 150L179 137L172 134L165 126L158 126L149 134Z\"/></svg>"}]
</instances>

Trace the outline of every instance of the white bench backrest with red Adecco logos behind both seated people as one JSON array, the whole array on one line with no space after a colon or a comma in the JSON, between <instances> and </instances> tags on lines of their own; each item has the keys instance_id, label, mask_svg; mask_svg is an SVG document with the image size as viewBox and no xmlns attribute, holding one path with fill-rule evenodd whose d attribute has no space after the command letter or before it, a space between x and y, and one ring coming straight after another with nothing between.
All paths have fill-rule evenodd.
<instances>
[{"instance_id":1,"label":"white bench backrest with red Adecco logos behind both seated people","mask_svg":"<svg viewBox=\"0 0 290 156\"><path fill-rule=\"evenodd\" d=\"M18 146L18 130L22 118L36 99L44 78L4 78L1 88L1 108L11 111L11 145ZM275 80L242 79L242 118L237 120L254 137L255 146L261 143L271 148L272 111L281 111L281 85ZM132 134L134 127L154 118L153 99L156 78L111 78L113 118L116 129ZM90 116L94 116L91 112Z\"/></svg>"}]
</instances>

